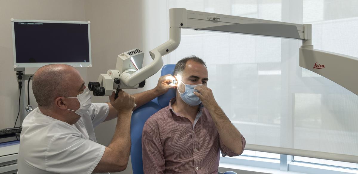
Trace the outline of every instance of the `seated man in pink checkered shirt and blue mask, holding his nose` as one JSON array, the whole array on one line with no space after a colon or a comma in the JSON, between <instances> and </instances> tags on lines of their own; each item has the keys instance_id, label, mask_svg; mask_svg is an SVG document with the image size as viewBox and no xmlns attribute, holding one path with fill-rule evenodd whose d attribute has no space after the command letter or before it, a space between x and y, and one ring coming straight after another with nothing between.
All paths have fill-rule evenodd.
<instances>
[{"instance_id":1,"label":"seated man in pink checkered shirt and blue mask, holding his nose","mask_svg":"<svg viewBox=\"0 0 358 174\"><path fill-rule=\"evenodd\" d=\"M223 156L238 156L245 138L207 87L208 70L202 59L183 58L175 65L174 77L178 80L176 97L143 128L144 173L217 173L220 150Z\"/></svg>"}]
</instances>

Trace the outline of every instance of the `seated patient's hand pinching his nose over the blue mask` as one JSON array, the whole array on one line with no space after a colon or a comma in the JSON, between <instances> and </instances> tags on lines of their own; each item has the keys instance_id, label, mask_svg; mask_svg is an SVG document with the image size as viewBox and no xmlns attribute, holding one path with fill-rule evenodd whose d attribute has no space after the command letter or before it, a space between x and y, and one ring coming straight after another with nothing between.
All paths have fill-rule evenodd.
<instances>
[{"instance_id":1,"label":"seated patient's hand pinching his nose over the blue mask","mask_svg":"<svg viewBox=\"0 0 358 174\"><path fill-rule=\"evenodd\" d=\"M194 89L199 91L195 91L194 94L195 96L198 96L200 98L205 108L210 110L219 106L218 103L215 101L213 91L210 88L206 86L196 86Z\"/></svg>"}]
</instances>

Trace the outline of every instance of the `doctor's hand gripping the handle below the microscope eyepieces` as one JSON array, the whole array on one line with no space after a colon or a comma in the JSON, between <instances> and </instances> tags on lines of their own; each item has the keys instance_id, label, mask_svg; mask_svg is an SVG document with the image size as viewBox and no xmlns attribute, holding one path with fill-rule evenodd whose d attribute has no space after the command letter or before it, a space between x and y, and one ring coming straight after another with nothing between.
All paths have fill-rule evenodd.
<instances>
[{"instance_id":1,"label":"doctor's hand gripping the handle below the microscope eyepieces","mask_svg":"<svg viewBox=\"0 0 358 174\"><path fill-rule=\"evenodd\" d=\"M135 98L130 94L122 91L118 91L118 98L114 99L115 92L113 91L110 96L111 105L117 110L118 113L132 112L134 107Z\"/></svg>"}]
</instances>

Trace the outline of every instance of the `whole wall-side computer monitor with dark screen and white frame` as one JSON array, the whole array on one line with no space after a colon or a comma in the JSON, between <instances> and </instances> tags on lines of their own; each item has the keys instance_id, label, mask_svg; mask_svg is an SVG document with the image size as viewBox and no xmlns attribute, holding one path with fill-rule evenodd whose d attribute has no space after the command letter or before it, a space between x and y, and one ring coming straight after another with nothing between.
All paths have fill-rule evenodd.
<instances>
[{"instance_id":1,"label":"whole wall-side computer monitor with dark screen and white frame","mask_svg":"<svg viewBox=\"0 0 358 174\"><path fill-rule=\"evenodd\" d=\"M14 68L64 63L92 67L88 22L14 20Z\"/></svg>"}]
</instances>

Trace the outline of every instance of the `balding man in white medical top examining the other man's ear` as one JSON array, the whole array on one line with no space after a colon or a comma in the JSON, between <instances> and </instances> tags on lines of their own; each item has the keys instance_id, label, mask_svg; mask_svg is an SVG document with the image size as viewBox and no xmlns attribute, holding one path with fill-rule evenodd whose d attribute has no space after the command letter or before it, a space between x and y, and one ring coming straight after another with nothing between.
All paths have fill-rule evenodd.
<instances>
[{"instance_id":1,"label":"balding man in white medical top examining the other man's ear","mask_svg":"<svg viewBox=\"0 0 358 174\"><path fill-rule=\"evenodd\" d=\"M166 80L166 79L170 80ZM159 78L149 91L131 96L124 91L110 96L110 103L91 103L91 94L79 72L69 65L47 65L33 77L38 103L23 121L18 174L91 174L119 172L128 163L130 121L137 107L165 93L171 75ZM117 118L108 147L96 142L94 127Z\"/></svg>"}]
</instances>

